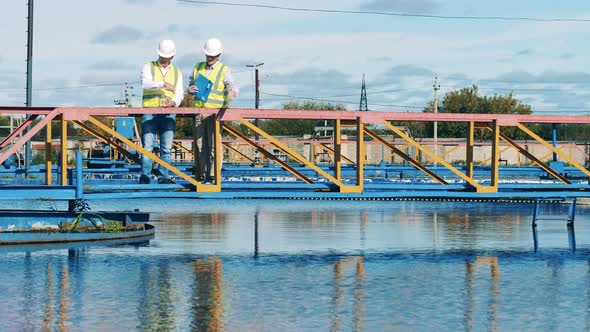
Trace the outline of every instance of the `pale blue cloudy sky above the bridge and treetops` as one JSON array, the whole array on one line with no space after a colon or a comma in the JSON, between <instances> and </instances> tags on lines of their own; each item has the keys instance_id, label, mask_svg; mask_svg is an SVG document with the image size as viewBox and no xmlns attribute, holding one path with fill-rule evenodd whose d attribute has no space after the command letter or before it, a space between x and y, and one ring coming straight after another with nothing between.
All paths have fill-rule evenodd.
<instances>
[{"instance_id":1,"label":"pale blue cloudy sky above the bridge and treetops","mask_svg":"<svg viewBox=\"0 0 590 332\"><path fill-rule=\"evenodd\" d=\"M0 106L23 106L28 0L4 2ZM537 114L590 114L587 0L36 0L33 31L33 106L113 106L125 83L139 106L141 68L161 39L176 42L186 85L217 37L241 89L232 107L254 107L247 65L264 63L260 108L357 110L364 75L372 111L422 111L437 77L441 99L476 84Z\"/></svg>"}]
</instances>

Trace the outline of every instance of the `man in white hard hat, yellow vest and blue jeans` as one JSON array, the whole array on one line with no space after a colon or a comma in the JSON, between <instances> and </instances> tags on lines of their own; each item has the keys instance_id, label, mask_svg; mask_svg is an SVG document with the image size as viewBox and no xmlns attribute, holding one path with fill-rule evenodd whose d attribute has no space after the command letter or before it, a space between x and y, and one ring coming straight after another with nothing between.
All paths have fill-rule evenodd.
<instances>
[{"instance_id":1,"label":"man in white hard hat, yellow vest and blue jeans","mask_svg":"<svg viewBox=\"0 0 590 332\"><path fill-rule=\"evenodd\" d=\"M148 62L141 71L143 88L142 107L178 107L184 94L182 74L171 62L176 54L174 41L165 39L158 45L157 61ZM143 148L152 152L156 134L160 136L160 159L172 162L172 140L176 130L176 114L144 114L141 119ZM141 156L141 175L139 183L149 184L152 175L153 161ZM158 183L174 183L169 177L168 169L158 167Z\"/></svg>"}]
</instances>

